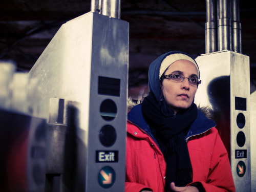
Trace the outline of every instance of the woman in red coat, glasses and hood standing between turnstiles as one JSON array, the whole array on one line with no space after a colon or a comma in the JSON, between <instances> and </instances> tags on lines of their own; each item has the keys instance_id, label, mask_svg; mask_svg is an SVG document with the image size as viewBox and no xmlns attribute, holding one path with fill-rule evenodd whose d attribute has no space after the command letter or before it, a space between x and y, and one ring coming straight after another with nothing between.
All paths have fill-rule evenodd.
<instances>
[{"instance_id":1,"label":"woman in red coat, glasses and hood standing between turnstiles","mask_svg":"<svg viewBox=\"0 0 256 192\"><path fill-rule=\"evenodd\" d=\"M148 79L149 95L127 116L125 191L235 191L216 123L194 103L194 58L161 55Z\"/></svg>"}]
</instances>

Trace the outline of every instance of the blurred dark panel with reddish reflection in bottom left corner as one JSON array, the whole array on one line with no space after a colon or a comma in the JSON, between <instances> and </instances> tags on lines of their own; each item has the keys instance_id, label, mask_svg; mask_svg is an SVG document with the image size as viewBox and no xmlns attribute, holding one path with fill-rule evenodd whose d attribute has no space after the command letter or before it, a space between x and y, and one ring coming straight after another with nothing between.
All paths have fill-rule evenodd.
<instances>
[{"instance_id":1,"label":"blurred dark panel with reddish reflection in bottom left corner","mask_svg":"<svg viewBox=\"0 0 256 192\"><path fill-rule=\"evenodd\" d=\"M30 123L30 116L0 110L0 191L27 191Z\"/></svg>"}]
</instances>

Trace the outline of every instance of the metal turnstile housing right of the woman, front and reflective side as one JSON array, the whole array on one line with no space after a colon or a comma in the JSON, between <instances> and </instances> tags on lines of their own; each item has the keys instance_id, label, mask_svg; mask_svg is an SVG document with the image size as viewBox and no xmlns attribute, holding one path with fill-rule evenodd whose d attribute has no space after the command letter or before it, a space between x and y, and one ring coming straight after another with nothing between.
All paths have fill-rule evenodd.
<instances>
[{"instance_id":1,"label":"metal turnstile housing right of the woman, front and reflective side","mask_svg":"<svg viewBox=\"0 0 256 192\"><path fill-rule=\"evenodd\" d=\"M201 55L196 61L202 83L198 88L195 102L201 106L208 105L213 111L217 129L230 155L236 190L250 191L249 57L232 51L222 51ZM246 99L246 110L236 109L236 97ZM241 129L237 123L239 113L245 117L245 126ZM240 131L244 132L246 138L245 144L241 147L237 143ZM236 150L246 150L247 157L236 158ZM237 173L240 161L246 166L244 175Z\"/></svg>"}]
</instances>

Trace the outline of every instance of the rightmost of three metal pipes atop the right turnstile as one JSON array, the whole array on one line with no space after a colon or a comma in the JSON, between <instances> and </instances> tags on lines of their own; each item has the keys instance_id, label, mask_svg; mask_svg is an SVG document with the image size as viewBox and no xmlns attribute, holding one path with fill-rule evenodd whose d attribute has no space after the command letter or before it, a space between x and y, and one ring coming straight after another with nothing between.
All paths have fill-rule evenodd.
<instances>
[{"instance_id":1,"label":"rightmost of three metal pipes atop the right turnstile","mask_svg":"<svg viewBox=\"0 0 256 192\"><path fill-rule=\"evenodd\" d=\"M232 51L242 53L239 0L232 0Z\"/></svg>"}]
</instances>

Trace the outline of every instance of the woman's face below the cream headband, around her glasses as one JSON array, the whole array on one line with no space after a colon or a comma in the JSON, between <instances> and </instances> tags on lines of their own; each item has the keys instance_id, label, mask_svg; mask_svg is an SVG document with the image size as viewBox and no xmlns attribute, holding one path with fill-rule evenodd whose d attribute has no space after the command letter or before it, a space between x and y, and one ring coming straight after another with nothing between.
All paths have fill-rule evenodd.
<instances>
[{"instance_id":1,"label":"woman's face below the cream headband, around her glasses","mask_svg":"<svg viewBox=\"0 0 256 192\"><path fill-rule=\"evenodd\" d=\"M167 68L164 75L173 73L182 74L185 77L195 74L198 76L196 66L188 60L175 61ZM187 78L182 82L168 78L163 79L161 89L169 108L176 114L180 110L189 108L192 104L197 92L197 85L189 83Z\"/></svg>"}]
</instances>

